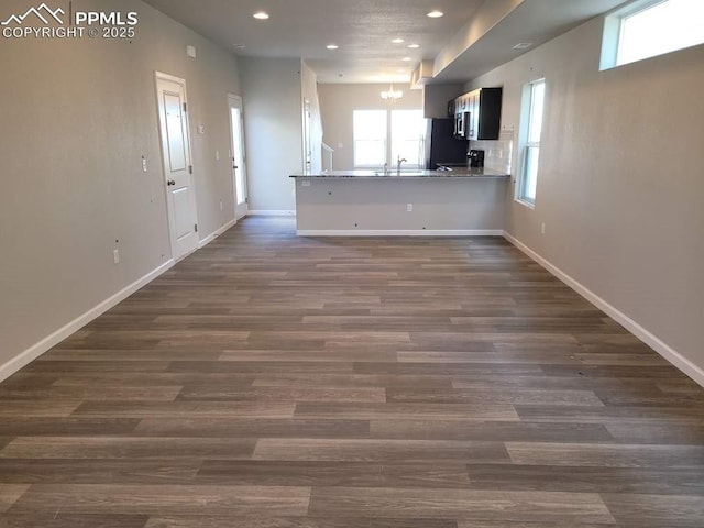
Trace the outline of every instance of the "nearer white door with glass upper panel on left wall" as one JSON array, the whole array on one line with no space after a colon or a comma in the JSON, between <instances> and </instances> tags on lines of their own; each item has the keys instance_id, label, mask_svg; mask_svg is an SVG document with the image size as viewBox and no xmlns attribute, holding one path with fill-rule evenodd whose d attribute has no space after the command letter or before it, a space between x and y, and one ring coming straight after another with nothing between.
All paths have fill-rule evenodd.
<instances>
[{"instance_id":1,"label":"nearer white door with glass upper panel on left wall","mask_svg":"<svg viewBox=\"0 0 704 528\"><path fill-rule=\"evenodd\" d=\"M186 81L157 73L156 94L172 254L179 260L198 248Z\"/></svg>"}]
</instances>

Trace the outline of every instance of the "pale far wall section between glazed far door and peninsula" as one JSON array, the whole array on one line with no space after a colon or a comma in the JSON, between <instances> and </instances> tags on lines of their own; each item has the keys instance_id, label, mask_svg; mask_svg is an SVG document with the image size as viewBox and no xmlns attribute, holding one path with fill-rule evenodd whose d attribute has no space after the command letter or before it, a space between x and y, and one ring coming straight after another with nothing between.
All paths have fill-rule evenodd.
<instances>
[{"instance_id":1,"label":"pale far wall section between glazed far door and peninsula","mask_svg":"<svg viewBox=\"0 0 704 528\"><path fill-rule=\"evenodd\" d=\"M301 63L240 58L250 210L294 211L289 175L302 169Z\"/></svg>"}]
</instances>

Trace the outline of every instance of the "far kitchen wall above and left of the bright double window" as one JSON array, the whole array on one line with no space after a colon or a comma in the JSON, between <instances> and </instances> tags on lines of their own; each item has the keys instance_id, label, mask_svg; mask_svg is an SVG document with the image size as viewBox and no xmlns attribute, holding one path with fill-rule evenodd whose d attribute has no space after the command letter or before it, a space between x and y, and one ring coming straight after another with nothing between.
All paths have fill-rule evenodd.
<instances>
[{"instance_id":1,"label":"far kitchen wall above and left of the bright double window","mask_svg":"<svg viewBox=\"0 0 704 528\"><path fill-rule=\"evenodd\" d=\"M404 91L404 97L394 102L394 108L422 108L421 90L411 90L409 85L394 85L394 89ZM388 85L318 85L322 139L334 148L333 168L354 166L352 112L389 108L389 103L382 99L383 90L388 90Z\"/></svg>"}]
</instances>

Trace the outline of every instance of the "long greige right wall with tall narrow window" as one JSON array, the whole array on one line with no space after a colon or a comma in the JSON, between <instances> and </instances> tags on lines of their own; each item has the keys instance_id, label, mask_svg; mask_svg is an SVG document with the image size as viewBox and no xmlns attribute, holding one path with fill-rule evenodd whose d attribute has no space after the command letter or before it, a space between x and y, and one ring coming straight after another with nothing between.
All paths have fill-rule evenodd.
<instances>
[{"instance_id":1,"label":"long greige right wall with tall narrow window","mask_svg":"<svg viewBox=\"0 0 704 528\"><path fill-rule=\"evenodd\" d=\"M598 72L601 41L595 19L466 87L503 85L517 130L522 84L547 79L536 207L510 189L506 230L701 376L704 46Z\"/></svg>"}]
</instances>

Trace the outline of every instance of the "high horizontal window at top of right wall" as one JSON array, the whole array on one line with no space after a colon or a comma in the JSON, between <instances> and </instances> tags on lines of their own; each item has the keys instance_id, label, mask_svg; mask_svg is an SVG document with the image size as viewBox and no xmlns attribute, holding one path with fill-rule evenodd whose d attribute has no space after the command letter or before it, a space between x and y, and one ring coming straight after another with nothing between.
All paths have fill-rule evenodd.
<instances>
[{"instance_id":1,"label":"high horizontal window at top of right wall","mask_svg":"<svg viewBox=\"0 0 704 528\"><path fill-rule=\"evenodd\" d=\"M602 68L704 43L702 0L640 0L606 16Z\"/></svg>"}]
</instances>

